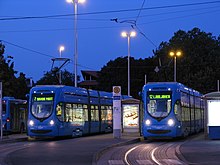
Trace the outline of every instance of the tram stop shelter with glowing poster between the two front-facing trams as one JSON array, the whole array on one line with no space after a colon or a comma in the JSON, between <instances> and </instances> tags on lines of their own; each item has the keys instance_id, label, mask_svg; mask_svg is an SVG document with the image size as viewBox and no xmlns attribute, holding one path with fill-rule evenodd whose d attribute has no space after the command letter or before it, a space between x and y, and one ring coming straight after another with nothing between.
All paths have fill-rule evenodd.
<instances>
[{"instance_id":1,"label":"tram stop shelter with glowing poster between the two front-facing trams","mask_svg":"<svg viewBox=\"0 0 220 165\"><path fill-rule=\"evenodd\" d=\"M140 100L128 98L122 100L122 132L140 131Z\"/></svg>"}]
</instances>

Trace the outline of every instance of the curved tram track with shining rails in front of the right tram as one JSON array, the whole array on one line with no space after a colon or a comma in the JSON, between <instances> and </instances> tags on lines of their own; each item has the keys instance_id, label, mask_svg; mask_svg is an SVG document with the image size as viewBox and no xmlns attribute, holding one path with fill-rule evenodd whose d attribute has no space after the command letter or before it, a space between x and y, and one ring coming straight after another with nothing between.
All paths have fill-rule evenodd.
<instances>
[{"instance_id":1,"label":"curved tram track with shining rails in front of the right tram","mask_svg":"<svg viewBox=\"0 0 220 165\"><path fill-rule=\"evenodd\" d=\"M124 145L113 148L105 153L108 165L186 165L178 155L180 146L185 141L144 141L137 144ZM106 156L109 155L109 156Z\"/></svg>"}]
</instances>

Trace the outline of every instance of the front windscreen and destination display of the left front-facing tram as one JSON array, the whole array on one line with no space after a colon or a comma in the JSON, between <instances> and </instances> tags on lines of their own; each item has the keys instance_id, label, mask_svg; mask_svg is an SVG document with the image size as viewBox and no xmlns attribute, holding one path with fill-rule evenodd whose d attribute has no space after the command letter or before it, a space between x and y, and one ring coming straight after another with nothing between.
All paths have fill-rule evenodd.
<instances>
[{"instance_id":1,"label":"front windscreen and destination display of the left front-facing tram","mask_svg":"<svg viewBox=\"0 0 220 165\"><path fill-rule=\"evenodd\" d=\"M47 118L53 110L52 96L35 96L33 97L31 112L36 118Z\"/></svg>"}]
</instances>

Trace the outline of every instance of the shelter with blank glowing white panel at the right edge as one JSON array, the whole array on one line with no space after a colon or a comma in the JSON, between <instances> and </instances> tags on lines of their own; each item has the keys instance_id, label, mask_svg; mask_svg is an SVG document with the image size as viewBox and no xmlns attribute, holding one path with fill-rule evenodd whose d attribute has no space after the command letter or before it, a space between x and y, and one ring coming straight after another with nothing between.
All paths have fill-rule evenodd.
<instances>
[{"instance_id":1,"label":"shelter with blank glowing white panel at the right edge","mask_svg":"<svg viewBox=\"0 0 220 165\"><path fill-rule=\"evenodd\" d=\"M220 92L204 95L207 101L207 133L210 139L220 139Z\"/></svg>"}]
</instances>

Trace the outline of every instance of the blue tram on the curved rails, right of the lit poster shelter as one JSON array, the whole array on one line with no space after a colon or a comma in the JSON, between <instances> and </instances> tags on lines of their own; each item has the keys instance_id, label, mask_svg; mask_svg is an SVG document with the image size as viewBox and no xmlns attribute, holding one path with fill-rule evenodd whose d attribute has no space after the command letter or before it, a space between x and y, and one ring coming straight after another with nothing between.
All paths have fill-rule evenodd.
<instances>
[{"instance_id":1,"label":"blue tram on the curved rails, right of the lit poster shelter","mask_svg":"<svg viewBox=\"0 0 220 165\"><path fill-rule=\"evenodd\" d=\"M152 82L141 95L145 139L185 137L204 129L205 102L198 91L177 82Z\"/></svg>"}]
</instances>

